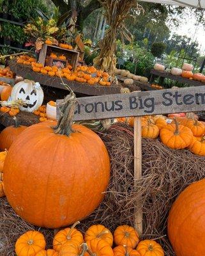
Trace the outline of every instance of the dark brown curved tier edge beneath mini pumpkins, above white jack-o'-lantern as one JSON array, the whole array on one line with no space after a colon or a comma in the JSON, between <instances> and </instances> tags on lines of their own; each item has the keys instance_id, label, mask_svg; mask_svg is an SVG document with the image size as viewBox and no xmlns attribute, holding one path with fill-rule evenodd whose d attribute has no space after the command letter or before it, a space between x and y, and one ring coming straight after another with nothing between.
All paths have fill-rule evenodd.
<instances>
[{"instance_id":1,"label":"dark brown curved tier edge beneath mini pumpkins, above white jack-o'-lantern","mask_svg":"<svg viewBox=\"0 0 205 256\"><path fill-rule=\"evenodd\" d=\"M40 84L64 89L67 90L63 84L61 84L61 79L59 77L50 77L47 75L43 75L41 73L34 72L31 70L31 67L18 64L16 61L10 61L10 69L15 72L17 75L26 78L27 76L32 77L33 81L36 81ZM91 86L87 83L78 83L77 81L68 81L67 79L63 78L63 81L68 84L73 92L82 93L85 95L107 95L107 94L116 94L120 93L119 86L98 86L94 85Z\"/></svg>"}]
</instances>

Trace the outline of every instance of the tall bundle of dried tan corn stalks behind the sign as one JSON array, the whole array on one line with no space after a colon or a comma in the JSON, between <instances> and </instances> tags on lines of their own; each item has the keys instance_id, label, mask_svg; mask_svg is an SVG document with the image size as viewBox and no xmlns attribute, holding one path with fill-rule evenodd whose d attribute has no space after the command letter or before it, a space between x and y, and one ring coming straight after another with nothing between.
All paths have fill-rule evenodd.
<instances>
[{"instance_id":1,"label":"tall bundle of dried tan corn stalks behind the sign","mask_svg":"<svg viewBox=\"0 0 205 256\"><path fill-rule=\"evenodd\" d=\"M125 20L132 17L130 10L135 12L143 10L136 0L98 0L105 8L105 17L109 24L105 37L100 42L100 54L93 60L95 67L109 72L114 79L116 67L116 38L118 35L126 40L131 40L132 35L125 28Z\"/></svg>"}]
</instances>

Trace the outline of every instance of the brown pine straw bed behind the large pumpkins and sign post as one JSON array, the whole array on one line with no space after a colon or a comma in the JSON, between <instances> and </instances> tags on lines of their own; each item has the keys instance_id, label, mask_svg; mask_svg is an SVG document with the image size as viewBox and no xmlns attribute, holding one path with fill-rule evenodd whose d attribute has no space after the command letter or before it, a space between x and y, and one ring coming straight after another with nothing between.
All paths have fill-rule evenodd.
<instances>
[{"instance_id":1,"label":"brown pine straw bed behind the large pumpkins and sign post","mask_svg":"<svg viewBox=\"0 0 205 256\"><path fill-rule=\"evenodd\" d=\"M188 150L171 150L158 140L143 139L142 179L136 181L133 179L133 128L114 124L98 134L109 150L110 184L102 204L78 229L84 231L96 223L102 223L111 231L118 225L133 225L135 202L142 199L142 238L160 238L157 241L162 244L165 255L174 256L166 232L168 212L186 186L205 177L205 157L197 157ZM14 256L15 241L32 229L43 232L51 248L54 230L29 225L15 214L6 198L0 199L0 216L0 255Z\"/></svg>"}]
</instances>

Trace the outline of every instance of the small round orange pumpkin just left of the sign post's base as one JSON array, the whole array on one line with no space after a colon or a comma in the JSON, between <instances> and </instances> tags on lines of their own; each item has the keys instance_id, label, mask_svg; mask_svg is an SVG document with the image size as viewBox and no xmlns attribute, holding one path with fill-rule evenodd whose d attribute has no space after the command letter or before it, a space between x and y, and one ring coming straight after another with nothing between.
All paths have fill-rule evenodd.
<instances>
[{"instance_id":1,"label":"small round orange pumpkin just left of the sign post's base","mask_svg":"<svg viewBox=\"0 0 205 256\"><path fill-rule=\"evenodd\" d=\"M114 231L114 243L116 245L125 245L134 249L139 243L139 234L137 234L135 228L128 225L119 226Z\"/></svg>"}]
</instances>

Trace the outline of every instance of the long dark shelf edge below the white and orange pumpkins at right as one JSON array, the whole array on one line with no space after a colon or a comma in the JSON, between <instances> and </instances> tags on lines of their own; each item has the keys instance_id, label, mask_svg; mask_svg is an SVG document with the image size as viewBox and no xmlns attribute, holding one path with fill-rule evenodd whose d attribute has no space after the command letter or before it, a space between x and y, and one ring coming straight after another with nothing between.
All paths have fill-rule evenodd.
<instances>
[{"instance_id":1,"label":"long dark shelf edge below the white and orange pumpkins at right","mask_svg":"<svg viewBox=\"0 0 205 256\"><path fill-rule=\"evenodd\" d=\"M190 84L191 86L202 86L205 85L204 83L198 82L198 81L194 81L194 80L190 80L187 78L183 78L181 76L174 76L169 72L165 72L165 71L158 71L158 70L151 70L151 74L154 76L160 76L160 77L164 77L164 78L169 78L175 81L178 81L179 83L186 83L186 84Z\"/></svg>"}]
</instances>

